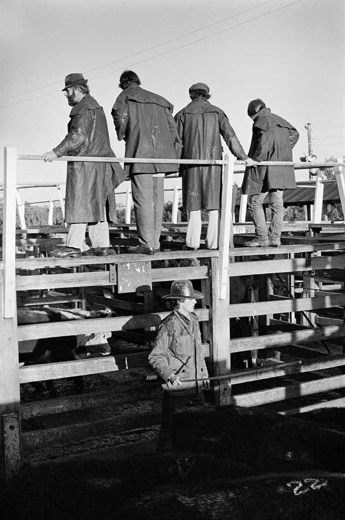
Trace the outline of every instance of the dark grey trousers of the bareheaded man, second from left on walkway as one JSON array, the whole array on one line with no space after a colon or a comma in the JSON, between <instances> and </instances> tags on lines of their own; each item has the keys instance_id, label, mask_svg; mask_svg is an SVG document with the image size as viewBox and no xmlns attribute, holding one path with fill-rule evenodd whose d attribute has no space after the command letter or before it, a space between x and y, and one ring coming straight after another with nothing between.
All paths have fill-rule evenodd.
<instances>
[{"instance_id":1,"label":"dark grey trousers of the bareheaded man, second from left on walkway","mask_svg":"<svg viewBox=\"0 0 345 520\"><path fill-rule=\"evenodd\" d=\"M132 198L139 245L159 249L164 206L164 177L151 173L131 175Z\"/></svg>"}]
</instances>

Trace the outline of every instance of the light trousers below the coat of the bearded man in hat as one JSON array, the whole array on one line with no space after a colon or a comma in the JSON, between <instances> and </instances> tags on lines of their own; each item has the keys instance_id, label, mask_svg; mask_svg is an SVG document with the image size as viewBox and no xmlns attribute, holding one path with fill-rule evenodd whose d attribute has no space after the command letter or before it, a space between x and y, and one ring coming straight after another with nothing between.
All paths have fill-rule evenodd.
<instances>
[{"instance_id":1,"label":"light trousers below the coat of the bearded man in hat","mask_svg":"<svg viewBox=\"0 0 345 520\"><path fill-rule=\"evenodd\" d=\"M107 222L76 223L71 224L68 231L66 245L69 248L77 248L87 251L89 248L85 243L86 225L88 237L92 248L109 248L109 227Z\"/></svg>"}]
</instances>

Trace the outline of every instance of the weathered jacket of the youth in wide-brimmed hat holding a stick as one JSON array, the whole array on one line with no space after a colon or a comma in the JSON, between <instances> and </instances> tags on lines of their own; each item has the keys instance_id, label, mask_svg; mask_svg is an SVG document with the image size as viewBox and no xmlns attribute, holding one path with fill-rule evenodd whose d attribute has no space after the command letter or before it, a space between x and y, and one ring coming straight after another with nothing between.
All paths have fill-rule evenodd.
<instances>
[{"instance_id":1,"label":"weathered jacket of the youth in wide-brimmed hat holding a stick","mask_svg":"<svg viewBox=\"0 0 345 520\"><path fill-rule=\"evenodd\" d=\"M158 328L154 347L148 356L152 368L168 381L174 373L182 379L207 378L208 372L202 353L199 321L189 313L190 325L174 310L164 318ZM202 381L162 385L170 395L195 394Z\"/></svg>"}]
</instances>

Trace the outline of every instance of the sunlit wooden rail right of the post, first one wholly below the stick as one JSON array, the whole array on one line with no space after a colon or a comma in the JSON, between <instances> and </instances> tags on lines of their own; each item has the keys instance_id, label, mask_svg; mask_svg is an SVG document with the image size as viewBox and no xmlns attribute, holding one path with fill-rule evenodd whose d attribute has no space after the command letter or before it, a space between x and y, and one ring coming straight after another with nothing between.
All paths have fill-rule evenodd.
<instances>
[{"instance_id":1,"label":"sunlit wooden rail right of the post, first one wholly below the stick","mask_svg":"<svg viewBox=\"0 0 345 520\"><path fill-rule=\"evenodd\" d=\"M331 378L317 379L305 383L298 383L296 385L294 384L279 388L271 388L269 390L261 390L259 392L235 395L231 398L231 404L234 406L244 407L266 405L270 402L328 392L336 388L342 388L344 385L345 374L335 375Z\"/></svg>"}]
</instances>

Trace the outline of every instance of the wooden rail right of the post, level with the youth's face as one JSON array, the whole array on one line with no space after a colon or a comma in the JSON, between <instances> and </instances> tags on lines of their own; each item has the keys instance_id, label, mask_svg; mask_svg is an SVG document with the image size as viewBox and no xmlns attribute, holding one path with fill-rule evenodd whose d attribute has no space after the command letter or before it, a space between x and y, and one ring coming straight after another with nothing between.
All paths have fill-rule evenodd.
<instances>
[{"instance_id":1,"label":"wooden rail right of the post, level with the youth's face","mask_svg":"<svg viewBox=\"0 0 345 520\"><path fill-rule=\"evenodd\" d=\"M345 305L344 294L326 294L313 298L284 298L272 302L238 303L229 306L229 317L263 316L266 314L291 313L301 310L324 309Z\"/></svg>"}]
</instances>

